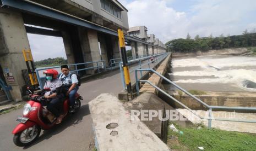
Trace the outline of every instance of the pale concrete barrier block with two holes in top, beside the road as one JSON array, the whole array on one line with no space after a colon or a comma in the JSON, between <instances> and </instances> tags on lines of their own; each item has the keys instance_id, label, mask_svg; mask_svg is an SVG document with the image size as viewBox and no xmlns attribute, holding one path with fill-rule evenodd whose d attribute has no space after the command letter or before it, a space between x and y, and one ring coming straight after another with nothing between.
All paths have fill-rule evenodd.
<instances>
[{"instance_id":1,"label":"pale concrete barrier block with two holes in top, beside the road","mask_svg":"<svg viewBox=\"0 0 256 151\"><path fill-rule=\"evenodd\" d=\"M117 97L101 94L89 102L97 150L170 150Z\"/></svg>"}]
</instances>

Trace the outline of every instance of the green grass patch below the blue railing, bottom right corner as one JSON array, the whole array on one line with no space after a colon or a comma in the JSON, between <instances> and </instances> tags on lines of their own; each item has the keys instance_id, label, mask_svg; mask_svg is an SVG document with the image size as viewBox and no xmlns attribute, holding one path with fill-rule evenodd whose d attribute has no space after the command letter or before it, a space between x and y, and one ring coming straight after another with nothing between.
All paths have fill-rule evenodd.
<instances>
[{"instance_id":1,"label":"green grass patch below the blue railing, bottom right corner","mask_svg":"<svg viewBox=\"0 0 256 151\"><path fill-rule=\"evenodd\" d=\"M175 125L183 135L168 131L168 138L177 137L179 144L169 144L171 149L199 150L198 147L204 147L204 150L256 150L256 135L251 133L223 131L219 129L207 129L201 127L182 128Z\"/></svg>"}]
</instances>

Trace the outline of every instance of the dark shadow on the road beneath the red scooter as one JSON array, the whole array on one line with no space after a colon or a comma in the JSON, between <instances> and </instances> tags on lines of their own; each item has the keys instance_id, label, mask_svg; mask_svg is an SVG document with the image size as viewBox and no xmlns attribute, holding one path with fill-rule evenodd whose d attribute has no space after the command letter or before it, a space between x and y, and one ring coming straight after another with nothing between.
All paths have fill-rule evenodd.
<instances>
[{"instance_id":1,"label":"dark shadow on the road beneath the red scooter","mask_svg":"<svg viewBox=\"0 0 256 151\"><path fill-rule=\"evenodd\" d=\"M39 138L30 146L23 147L23 149L28 149L31 146L34 146L43 140L47 140L48 138L51 138L52 136L58 134L59 132L62 132L63 130L67 129L67 127L79 124L83 120L83 117L89 114L90 114L89 105L84 104L83 106L81 106L81 108L77 113L67 115L67 117L63 119L61 124L52 127L52 129L50 130L44 130L43 132L41 131L42 135L39 136Z\"/></svg>"}]
</instances>

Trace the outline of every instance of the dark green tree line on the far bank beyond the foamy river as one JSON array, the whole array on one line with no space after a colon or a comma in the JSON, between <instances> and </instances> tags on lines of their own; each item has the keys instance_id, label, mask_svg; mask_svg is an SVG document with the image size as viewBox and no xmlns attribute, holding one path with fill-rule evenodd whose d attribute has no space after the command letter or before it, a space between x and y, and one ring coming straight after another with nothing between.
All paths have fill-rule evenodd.
<instances>
[{"instance_id":1,"label":"dark green tree line on the far bank beyond the foamy river","mask_svg":"<svg viewBox=\"0 0 256 151\"><path fill-rule=\"evenodd\" d=\"M224 48L241 48L241 47L256 47L256 30L248 32L243 31L242 35L230 36L229 34L225 37L221 34L219 37L213 37L210 34L209 37L195 36L192 39L187 34L186 39L173 39L166 43L166 46L170 48L172 52L179 53L193 53L196 51L208 51L213 49L224 49Z\"/></svg>"}]
</instances>

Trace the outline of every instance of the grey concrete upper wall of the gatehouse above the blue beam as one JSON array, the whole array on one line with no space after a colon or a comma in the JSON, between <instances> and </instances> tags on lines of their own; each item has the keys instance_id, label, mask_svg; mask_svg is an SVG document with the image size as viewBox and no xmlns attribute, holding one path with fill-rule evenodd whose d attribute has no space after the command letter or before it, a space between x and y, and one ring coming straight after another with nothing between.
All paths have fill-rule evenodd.
<instances>
[{"instance_id":1,"label":"grey concrete upper wall of the gatehouse above the blue beam","mask_svg":"<svg viewBox=\"0 0 256 151\"><path fill-rule=\"evenodd\" d=\"M30 0L47 7L54 8L64 13L68 13L78 18L89 20L96 24L106 26L112 30L123 28L124 32L128 31L128 10L118 1L111 1L115 6L121 9L121 19L112 15L105 9L101 8L100 0Z\"/></svg>"}]
</instances>

